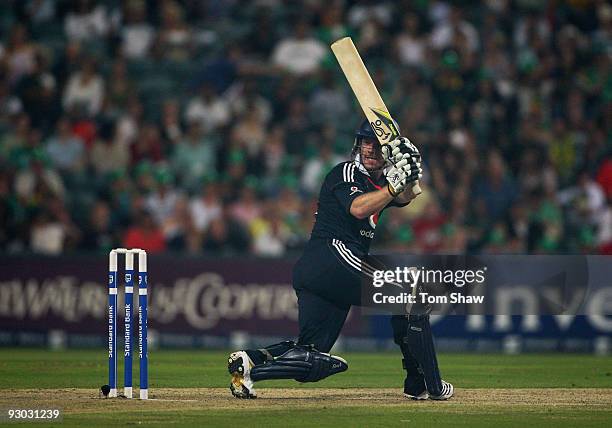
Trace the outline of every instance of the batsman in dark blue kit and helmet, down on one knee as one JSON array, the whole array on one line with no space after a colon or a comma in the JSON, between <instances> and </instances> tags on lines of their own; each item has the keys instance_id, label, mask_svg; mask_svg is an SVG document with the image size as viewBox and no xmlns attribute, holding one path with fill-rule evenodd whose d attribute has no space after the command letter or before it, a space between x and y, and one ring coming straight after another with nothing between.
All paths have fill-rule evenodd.
<instances>
[{"instance_id":1,"label":"batsman in dark blue kit and helmet, down on one knee","mask_svg":"<svg viewBox=\"0 0 612 428\"><path fill-rule=\"evenodd\" d=\"M397 128L399 129L399 128ZM299 311L297 343L285 341L229 356L230 390L256 398L254 383L267 379L316 382L348 369L329 351L349 309L359 305L361 275L378 217L389 207L404 207L416 196L412 184L422 175L421 155L404 137L381 147L366 120L356 131L351 160L325 177L316 221L303 255L293 269ZM395 343L407 375L404 394L415 400L447 400L453 385L442 380L429 315L393 315Z\"/></svg>"}]
</instances>

